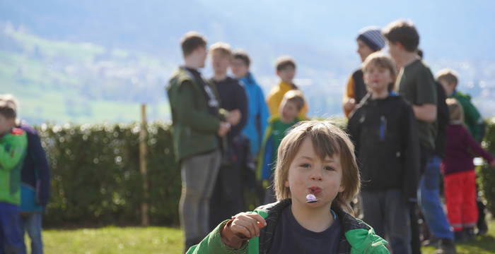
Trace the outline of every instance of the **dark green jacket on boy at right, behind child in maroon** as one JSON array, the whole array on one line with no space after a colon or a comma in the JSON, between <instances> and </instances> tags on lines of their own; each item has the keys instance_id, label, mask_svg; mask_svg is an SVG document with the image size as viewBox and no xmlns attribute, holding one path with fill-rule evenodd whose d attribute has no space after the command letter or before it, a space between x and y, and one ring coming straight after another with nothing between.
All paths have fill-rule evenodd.
<instances>
[{"instance_id":1,"label":"dark green jacket on boy at right, behind child in maroon","mask_svg":"<svg viewBox=\"0 0 495 254\"><path fill-rule=\"evenodd\" d=\"M474 140L481 143L484 135L484 121L479 111L471 102L470 95L454 91L452 97L458 100L464 110L464 123Z\"/></svg>"}]
</instances>

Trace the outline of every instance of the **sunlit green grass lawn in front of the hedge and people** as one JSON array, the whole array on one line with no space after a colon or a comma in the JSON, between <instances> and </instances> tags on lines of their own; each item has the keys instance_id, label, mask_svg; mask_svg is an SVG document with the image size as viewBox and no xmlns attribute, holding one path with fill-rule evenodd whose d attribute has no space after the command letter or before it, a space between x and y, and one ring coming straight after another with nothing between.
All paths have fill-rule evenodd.
<instances>
[{"instance_id":1,"label":"sunlit green grass lawn in front of the hedge and people","mask_svg":"<svg viewBox=\"0 0 495 254\"><path fill-rule=\"evenodd\" d=\"M495 253L495 221L489 224L486 236L475 241L458 244L458 253ZM182 231L167 227L105 227L100 229L76 229L43 231L45 253L180 253ZM434 248L423 248L424 254Z\"/></svg>"}]
</instances>

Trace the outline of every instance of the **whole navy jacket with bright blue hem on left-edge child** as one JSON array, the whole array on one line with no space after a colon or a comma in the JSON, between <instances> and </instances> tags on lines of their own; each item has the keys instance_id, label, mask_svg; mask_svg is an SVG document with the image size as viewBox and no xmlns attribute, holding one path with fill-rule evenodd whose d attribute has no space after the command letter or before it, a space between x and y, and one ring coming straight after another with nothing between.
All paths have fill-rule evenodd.
<instances>
[{"instance_id":1,"label":"whole navy jacket with bright blue hem on left-edge child","mask_svg":"<svg viewBox=\"0 0 495 254\"><path fill-rule=\"evenodd\" d=\"M21 172L21 212L42 212L50 198L50 169L40 136L27 125L20 127L28 134L28 152Z\"/></svg>"}]
</instances>

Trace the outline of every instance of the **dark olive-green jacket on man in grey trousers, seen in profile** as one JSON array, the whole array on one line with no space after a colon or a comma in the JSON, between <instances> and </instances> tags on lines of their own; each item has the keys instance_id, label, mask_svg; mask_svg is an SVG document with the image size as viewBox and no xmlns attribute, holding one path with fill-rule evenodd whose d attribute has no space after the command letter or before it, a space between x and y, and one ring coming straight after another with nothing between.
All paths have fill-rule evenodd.
<instances>
[{"instance_id":1,"label":"dark olive-green jacket on man in grey trousers, seen in profile","mask_svg":"<svg viewBox=\"0 0 495 254\"><path fill-rule=\"evenodd\" d=\"M210 84L218 99L215 86ZM216 135L225 111L219 116L209 112L204 90L185 68L179 68L166 87L173 121L173 143L177 161L219 149Z\"/></svg>"}]
</instances>

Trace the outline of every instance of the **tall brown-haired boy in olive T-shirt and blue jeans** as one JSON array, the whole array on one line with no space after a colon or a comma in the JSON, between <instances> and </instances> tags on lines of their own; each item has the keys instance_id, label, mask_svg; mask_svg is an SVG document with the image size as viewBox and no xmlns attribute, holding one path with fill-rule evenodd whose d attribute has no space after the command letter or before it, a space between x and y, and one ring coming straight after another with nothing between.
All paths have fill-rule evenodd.
<instances>
[{"instance_id":1,"label":"tall brown-haired boy in olive T-shirt and blue jeans","mask_svg":"<svg viewBox=\"0 0 495 254\"><path fill-rule=\"evenodd\" d=\"M400 68L395 86L411 105L417 119L421 155L419 203L433 236L441 239L443 253L455 253L453 231L441 206L438 193L439 159L434 155L437 119L437 87L429 66L417 54L419 34L416 27L404 20L390 23L384 30L390 55ZM412 213L414 216L414 213ZM412 219L417 229L417 219ZM419 251L419 234L414 232L413 252Z\"/></svg>"}]
</instances>

